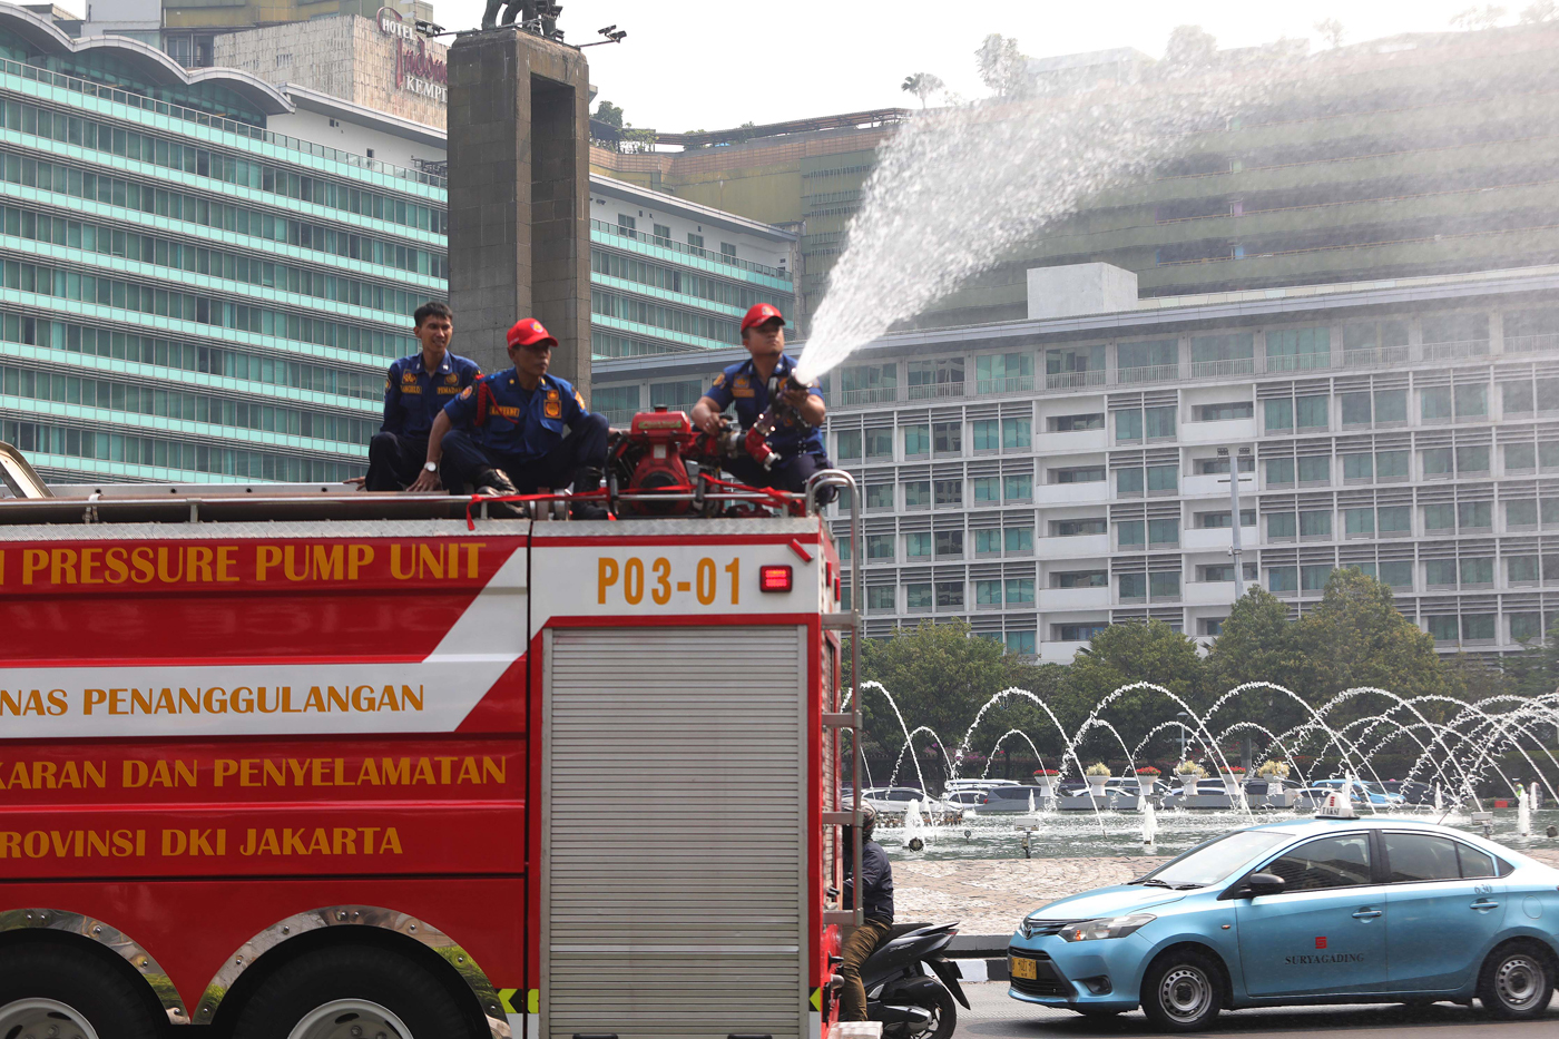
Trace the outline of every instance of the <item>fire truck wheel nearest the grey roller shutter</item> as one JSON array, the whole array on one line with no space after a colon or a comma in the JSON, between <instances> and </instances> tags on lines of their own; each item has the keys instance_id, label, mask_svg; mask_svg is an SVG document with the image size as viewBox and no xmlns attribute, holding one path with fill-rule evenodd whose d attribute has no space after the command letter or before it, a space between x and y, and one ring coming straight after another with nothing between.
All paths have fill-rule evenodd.
<instances>
[{"instance_id":1,"label":"fire truck wheel nearest the grey roller shutter","mask_svg":"<svg viewBox=\"0 0 1559 1039\"><path fill-rule=\"evenodd\" d=\"M471 1019L432 972L366 945L318 949L267 978L232 1039L463 1039Z\"/></svg>"}]
</instances>

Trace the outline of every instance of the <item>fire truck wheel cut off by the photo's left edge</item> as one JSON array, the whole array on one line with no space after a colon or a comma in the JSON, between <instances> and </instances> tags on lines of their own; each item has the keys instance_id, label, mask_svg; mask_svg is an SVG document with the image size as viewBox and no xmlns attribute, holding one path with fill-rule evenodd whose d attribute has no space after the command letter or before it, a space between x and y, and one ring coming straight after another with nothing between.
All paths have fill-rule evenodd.
<instances>
[{"instance_id":1,"label":"fire truck wheel cut off by the photo's left edge","mask_svg":"<svg viewBox=\"0 0 1559 1039\"><path fill-rule=\"evenodd\" d=\"M150 992L136 984L87 950L11 947L0 953L0 1036L156 1039Z\"/></svg>"}]
</instances>

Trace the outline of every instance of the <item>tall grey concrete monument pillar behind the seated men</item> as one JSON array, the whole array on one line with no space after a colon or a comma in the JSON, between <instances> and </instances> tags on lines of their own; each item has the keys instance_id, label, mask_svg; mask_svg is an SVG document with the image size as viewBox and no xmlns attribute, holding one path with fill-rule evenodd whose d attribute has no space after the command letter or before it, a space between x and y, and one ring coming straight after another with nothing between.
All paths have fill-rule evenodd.
<instances>
[{"instance_id":1,"label":"tall grey concrete monument pillar behind the seated men","mask_svg":"<svg viewBox=\"0 0 1559 1039\"><path fill-rule=\"evenodd\" d=\"M449 304L455 349L510 367L504 334L535 317L552 373L589 399L589 67L513 28L449 48Z\"/></svg>"}]
</instances>

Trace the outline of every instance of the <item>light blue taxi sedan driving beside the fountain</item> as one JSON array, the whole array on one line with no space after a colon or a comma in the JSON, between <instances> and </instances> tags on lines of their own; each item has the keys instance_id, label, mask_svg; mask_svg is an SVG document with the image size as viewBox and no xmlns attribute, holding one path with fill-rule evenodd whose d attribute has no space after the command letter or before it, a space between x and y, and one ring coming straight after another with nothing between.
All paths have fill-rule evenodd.
<instances>
[{"instance_id":1,"label":"light blue taxi sedan driving beside the fountain","mask_svg":"<svg viewBox=\"0 0 1559 1039\"><path fill-rule=\"evenodd\" d=\"M1297 1003L1548 1009L1559 871L1448 827L1353 817L1341 797L1328 808L1342 817L1235 830L1030 913L1009 994L1088 1016L1141 1006L1161 1031Z\"/></svg>"}]
</instances>

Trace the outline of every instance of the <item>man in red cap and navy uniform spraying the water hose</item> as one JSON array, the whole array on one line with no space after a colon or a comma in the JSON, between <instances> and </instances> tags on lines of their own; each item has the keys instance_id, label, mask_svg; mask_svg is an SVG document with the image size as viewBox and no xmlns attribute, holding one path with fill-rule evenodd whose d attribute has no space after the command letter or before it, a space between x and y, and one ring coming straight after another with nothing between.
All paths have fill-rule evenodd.
<instances>
[{"instance_id":1,"label":"man in red cap and navy uniform spraying the water hose","mask_svg":"<svg viewBox=\"0 0 1559 1039\"><path fill-rule=\"evenodd\" d=\"M751 356L716 378L709 392L694 404L692 424L709 435L719 435L720 412L734 402L737 423L742 429L750 429L775 396L783 396L787 407L769 435L769 446L780 456L773 466L764 468L756 460L741 456L726 459L725 468L748 487L803 491L814 473L829 468L823 434L818 429L828 417L823 393L817 388L787 385L795 362L784 353L784 317L778 307L759 303L747 312L742 318L742 346ZM818 501L831 499L833 488L823 488Z\"/></svg>"}]
</instances>

